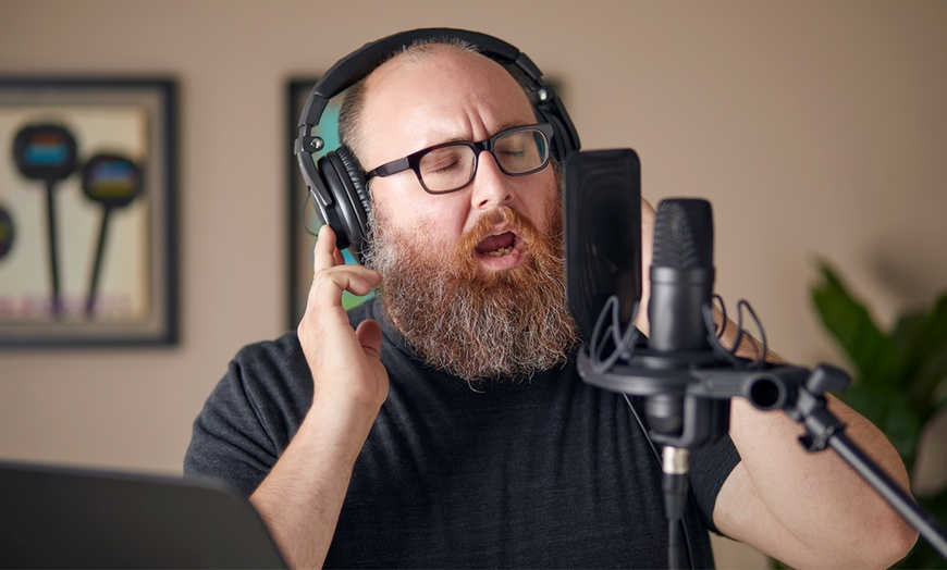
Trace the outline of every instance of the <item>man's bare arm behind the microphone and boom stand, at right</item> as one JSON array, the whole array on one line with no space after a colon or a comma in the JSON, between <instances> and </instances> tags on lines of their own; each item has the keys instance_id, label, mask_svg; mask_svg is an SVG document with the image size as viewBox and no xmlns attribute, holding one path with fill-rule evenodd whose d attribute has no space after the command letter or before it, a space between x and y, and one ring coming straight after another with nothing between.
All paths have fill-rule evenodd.
<instances>
[{"instance_id":1,"label":"man's bare arm behind the microphone and boom stand, at right","mask_svg":"<svg viewBox=\"0 0 947 570\"><path fill-rule=\"evenodd\" d=\"M642 200L641 212L642 273L648 275L654 209ZM636 322L644 334L649 298L645 278ZM722 344L733 346L735 336L730 323ZM754 358L758 348L745 336L738 354ZM884 434L839 400L828 400L848 436L908 488L905 466ZM798 443L803 432L785 413L763 412L734 398L729 433L741 461L717 495L717 529L796 568L885 568L903 557L918 533L834 451L805 451Z\"/></svg>"}]
</instances>

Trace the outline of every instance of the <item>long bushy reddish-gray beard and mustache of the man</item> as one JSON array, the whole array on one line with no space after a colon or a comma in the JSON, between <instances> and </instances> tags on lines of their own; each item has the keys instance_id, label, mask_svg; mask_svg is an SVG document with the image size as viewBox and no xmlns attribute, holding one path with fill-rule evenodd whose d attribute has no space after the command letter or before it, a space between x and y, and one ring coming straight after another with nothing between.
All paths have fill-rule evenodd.
<instances>
[{"instance_id":1,"label":"long bushy reddish-gray beard and mustache of the man","mask_svg":"<svg viewBox=\"0 0 947 570\"><path fill-rule=\"evenodd\" d=\"M430 365L468 382L522 379L564 364L578 342L566 309L562 209L550 191L543 235L525 215L500 208L483 215L444 259L416 231L390 235L385 220L367 262L382 275L377 294L389 321ZM480 271L476 248L505 221L526 259Z\"/></svg>"}]
</instances>

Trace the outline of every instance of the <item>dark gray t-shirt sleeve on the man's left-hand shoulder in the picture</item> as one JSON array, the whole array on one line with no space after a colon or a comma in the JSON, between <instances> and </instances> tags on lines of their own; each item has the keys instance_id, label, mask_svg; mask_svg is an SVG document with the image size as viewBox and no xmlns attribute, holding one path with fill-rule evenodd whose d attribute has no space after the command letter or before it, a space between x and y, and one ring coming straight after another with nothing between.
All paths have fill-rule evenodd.
<instances>
[{"instance_id":1,"label":"dark gray t-shirt sleeve on the man's left-hand shoulder in the picture","mask_svg":"<svg viewBox=\"0 0 947 570\"><path fill-rule=\"evenodd\" d=\"M184 476L223 480L249 496L311 401L311 374L294 334L244 347L194 421Z\"/></svg>"}]
</instances>

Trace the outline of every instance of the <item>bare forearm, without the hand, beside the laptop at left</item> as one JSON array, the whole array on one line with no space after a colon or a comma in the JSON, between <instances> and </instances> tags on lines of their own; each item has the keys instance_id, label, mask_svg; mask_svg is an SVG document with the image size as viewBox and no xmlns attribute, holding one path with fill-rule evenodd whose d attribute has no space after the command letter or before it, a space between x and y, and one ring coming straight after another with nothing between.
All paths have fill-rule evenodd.
<instances>
[{"instance_id":1,"label":"bare forearm, without the hand, beside the laptop at left","mask_svg":"<svg viewBox=\"0 0 947 570\"><path fill-rule=\"evenodd\" d=\"M317 396L307 418L250 501L292 568L325 560L353 467L378 410L352 413Z\"/></svg>"}]
</instances>

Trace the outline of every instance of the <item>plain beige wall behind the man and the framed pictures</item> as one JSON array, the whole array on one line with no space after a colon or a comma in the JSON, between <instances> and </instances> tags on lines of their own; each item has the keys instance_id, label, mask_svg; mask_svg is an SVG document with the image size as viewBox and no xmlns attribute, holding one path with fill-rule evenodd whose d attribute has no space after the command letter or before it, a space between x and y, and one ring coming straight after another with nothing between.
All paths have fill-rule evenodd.
<instances>
[{"instance_id":1,"label":"plain beige wall behind the man and the framed pictures","mask_svg":"<svg viewBox=\"0 0 947 570\"><path fill-rule=\"evenodd\" d=\"M884 323L947 288L947 2L0 0L0 74L180 79L183 299L174 348L0 352L0 459L180 472L229 358L284 327L284 82L421 26L507 39L648 198L711 199L717 289L796 361L844 363L815 256Z\"/></svg>"}]
</instances>

